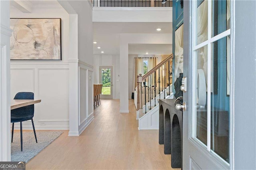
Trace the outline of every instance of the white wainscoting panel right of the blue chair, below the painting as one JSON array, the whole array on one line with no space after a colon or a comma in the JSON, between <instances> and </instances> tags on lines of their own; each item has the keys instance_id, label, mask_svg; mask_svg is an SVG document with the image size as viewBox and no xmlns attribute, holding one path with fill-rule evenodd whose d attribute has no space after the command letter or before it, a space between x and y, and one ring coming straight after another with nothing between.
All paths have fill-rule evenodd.
<instances>
[{"instance_id":1,"label":"white wainscoting panel right of the blue chair, below the painting","mask_svg":"<svg viewBox=\"0 0 256 170\"><path fill-rule=\"evenodd\" d=\"M38 120L69 119L68 69L38 69ZM50 124L46 122L45 125ZM67 122L64 122L67 125Z\"/></svg>"}]
</instances>

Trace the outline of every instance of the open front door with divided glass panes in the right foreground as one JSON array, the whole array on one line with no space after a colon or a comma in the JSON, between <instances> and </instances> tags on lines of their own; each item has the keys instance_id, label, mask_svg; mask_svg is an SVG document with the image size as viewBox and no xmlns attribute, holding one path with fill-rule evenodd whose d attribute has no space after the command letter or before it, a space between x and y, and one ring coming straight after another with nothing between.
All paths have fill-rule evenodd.
<instances>
[{"instance_id":1,"label":"open front door with divided glass panes in the right foreground","mask_svg":"<svg viewBox=\"0 0 256 170\"><path fill-rule=\"evenodd\" d=\"M184 27L190 26L190 43L189 55L184 53L189 91L183 93L183 168L229 169L230 1L186 4L192 22L184 20Z\"/></svg>"}]
</instances>

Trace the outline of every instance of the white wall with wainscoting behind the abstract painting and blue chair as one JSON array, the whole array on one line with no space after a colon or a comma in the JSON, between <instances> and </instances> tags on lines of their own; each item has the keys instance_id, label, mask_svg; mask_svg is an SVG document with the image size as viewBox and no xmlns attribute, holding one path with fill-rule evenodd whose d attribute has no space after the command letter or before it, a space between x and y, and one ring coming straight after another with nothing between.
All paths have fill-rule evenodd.
<instances>
[{"instance_id":1,"label":"white wall with wainscoting behind the abstract painting and blue chair","mask_svg":"<svg viewBox=\"0 0 256 170\"><path fill-rule=\"evenodd\" d=\"M32 13L10 10L11 18L61 18L62 61L11 61L11 98L19 91L34 92L36 129L69 128L69 15L61 8L36 9ZM19 124L16 123L16 128ZM30 121L24 129L31 129Z\"/></svg>"}]
</instances>

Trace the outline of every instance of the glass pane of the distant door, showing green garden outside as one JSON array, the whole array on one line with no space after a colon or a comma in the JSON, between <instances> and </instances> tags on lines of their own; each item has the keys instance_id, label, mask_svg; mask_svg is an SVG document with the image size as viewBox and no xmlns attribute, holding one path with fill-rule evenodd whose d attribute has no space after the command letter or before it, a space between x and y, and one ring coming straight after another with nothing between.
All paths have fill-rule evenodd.
<instances>
[{"instance_id":1,"label":"glass pane of the distant door, showing green garden outside","mask_svg":"<svg viewBox=\"0 0 256 170\"><path fill-rule=\"evenodd\" d=\"M111 69L101 69L102 95L111 95Z\"/></svg>"}]
</instances>

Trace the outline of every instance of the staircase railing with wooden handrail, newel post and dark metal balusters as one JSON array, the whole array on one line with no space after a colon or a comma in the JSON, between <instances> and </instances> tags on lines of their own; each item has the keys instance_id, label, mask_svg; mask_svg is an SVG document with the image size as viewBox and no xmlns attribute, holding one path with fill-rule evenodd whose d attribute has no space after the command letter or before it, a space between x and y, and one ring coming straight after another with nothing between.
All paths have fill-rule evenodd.
<instances>
[{"instance_id":1,"label":"staircase railing with wooden handrail, newel post and dark metal balusters","mask_svg":"<svg viewBox=\"0 0 256 170\"><path fill-rule=\"evenodd\" d=\"M145 75L138 75L137 76L137 110L140 110L142 112L142 104L145 104L151 100L154 100L154 103L156 106L156 95L159 94L159 97L161 97L160 93L164 92L164 99L165 99L165 92L168 86L170 86L170 80L172 78L172 59L173 54L168 56L166 59L161 61L158 65L156 65L153 69L148 71ZM144 88L143 88L143 87ZM170 88L167 90L169 91L170 95ZM142 89L144 90L144 100L142 100ZM149 110L154 107L151 106ZM147 113L147 108L145 107L145 113ZM142 114L142 113L140 113Z\"/></svg>"}]
</instances>

